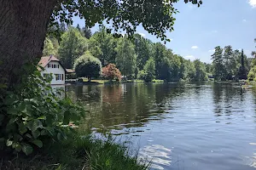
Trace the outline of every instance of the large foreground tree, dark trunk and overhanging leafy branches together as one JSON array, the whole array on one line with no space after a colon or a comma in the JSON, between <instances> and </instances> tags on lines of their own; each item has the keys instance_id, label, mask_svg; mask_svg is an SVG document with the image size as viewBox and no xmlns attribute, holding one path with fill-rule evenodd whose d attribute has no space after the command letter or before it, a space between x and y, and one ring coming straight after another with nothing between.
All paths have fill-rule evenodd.
<instances>
[{"instance_id":1,"label":"large foreground tree, dark trunk and overhanging leafy branches together","mask_svg":"<svg viewBox=\"0 0 256 170\"><path fill-rule=\"evenodd\" d=\"M201 0L184 0L184 3L189 2L198 6L202 3ZM60 36L59 23L71 26L74 16L84 19L87 27L96 23L102 25L104 21L109 24L107 31L115 36L126 31L131 37L137 26L143 26L149 33L168 41L166 31L174 30L173 14L177 13L173 3L177 0L27 0L15 3L3 0L0 15L8 22L0 27L0 60L6 65L0 67L4 77L1 82L8 85L20 82L14 70L26 63L36 64L42 56L47 31Z\"/></svg>"}]
</instances>

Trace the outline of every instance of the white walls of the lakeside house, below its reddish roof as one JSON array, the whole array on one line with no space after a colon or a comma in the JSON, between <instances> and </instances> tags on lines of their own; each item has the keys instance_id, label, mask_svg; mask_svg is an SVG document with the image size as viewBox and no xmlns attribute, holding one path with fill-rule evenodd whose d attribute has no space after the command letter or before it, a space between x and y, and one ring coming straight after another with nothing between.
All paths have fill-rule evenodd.
<instances>
[{"instance_id":1,"label":"white walls of the lakeside house, below its reddish roof","mask_svg":"<svg viewBox=\"0 0 256 170\"><path fill-rule=\"evenodd\" d=\"M57 61L49 61L49 64L50 65L60 65L60 63L59 62L57 62ZM65 71L64 71L64 69L63 69L63 67L60 65L59 66L59 68L52 68L52 67L49 67L48 68L48 65L46 65L45 67L44 67L44 71L41 71L41 74L42 74L42 76L44 76L44 74L50 74L50 73L52 73L53 75L52 75L52 77L53 77L53 79L52 79L52 81L51 81L51 84L65 84ZM55 74L63 74L63 81L62 80L57 80L56 81L56 77L55 77Z\"/></svg>"}]
</instances>

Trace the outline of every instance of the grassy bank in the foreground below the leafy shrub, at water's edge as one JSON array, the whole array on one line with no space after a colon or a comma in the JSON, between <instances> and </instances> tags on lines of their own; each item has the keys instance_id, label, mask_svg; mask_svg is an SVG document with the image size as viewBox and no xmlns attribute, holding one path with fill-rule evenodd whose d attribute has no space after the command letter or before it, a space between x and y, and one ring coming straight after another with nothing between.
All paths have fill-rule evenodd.
<instances>
[{"instance_id":1,"label":"grassy bank in the foreground below the leafy shrub, at water's edge","mask_svg":"<svg viewBox=\"0 0 256 170\"><path fill-rule=\"evenodd\" d=\"M1 161L1 160L0 160ZM96 139L93 136L71 136L51 145L33 156L3 156L0 169L32 170L145 170L148 165L137 161L123 144L113 139Z\"/></svg>"}]
</instances>

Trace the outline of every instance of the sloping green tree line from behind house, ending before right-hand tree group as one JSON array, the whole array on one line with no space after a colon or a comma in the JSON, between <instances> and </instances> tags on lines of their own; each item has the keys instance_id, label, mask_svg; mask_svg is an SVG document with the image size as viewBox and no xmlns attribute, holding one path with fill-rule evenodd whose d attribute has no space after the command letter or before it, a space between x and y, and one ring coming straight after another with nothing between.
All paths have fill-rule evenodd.
<instances>
[{"instance_id":1,"label":"sloping green tree line from behind house, ending before right-hand tree group","mask_svg":"<svg viewBox=\"0 0 256 170\"><path fill-rule=\"evenodd\" d=\"M160 42L151 42L139 34L133 39L126 35L116 38L105 27L92 35L86 27L67 26L62 29L60 41L49 36L44 42L44 55L56 55L66 68L74 69L76 59L85 52L90 52L90 58L99 59L103 67L116 65L127 79L203 81L211 73L208 64L199 59L183 59Z\"/></svg>"}]
</instances>

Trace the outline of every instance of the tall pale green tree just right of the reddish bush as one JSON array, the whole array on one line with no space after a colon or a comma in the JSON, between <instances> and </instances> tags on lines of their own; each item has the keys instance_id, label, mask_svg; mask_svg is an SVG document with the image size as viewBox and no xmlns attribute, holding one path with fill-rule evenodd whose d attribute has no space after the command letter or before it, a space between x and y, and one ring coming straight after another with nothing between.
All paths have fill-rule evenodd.
<instances>
[{"instance_id":1,"label":"tall pale green tree just right of the reddish bush","mask_svg":"<svg viewBox=\"0 0 256 170\"><path fill-rule=\"evenodd\" d=\"M134 45L127 37L119 38L116 50L116 65L122 74L126 77L132 77L136 69L136 54Z\"/></svg>"}]
</instances>

